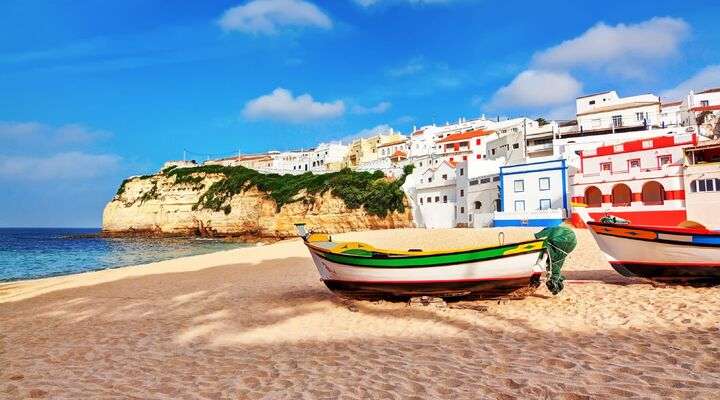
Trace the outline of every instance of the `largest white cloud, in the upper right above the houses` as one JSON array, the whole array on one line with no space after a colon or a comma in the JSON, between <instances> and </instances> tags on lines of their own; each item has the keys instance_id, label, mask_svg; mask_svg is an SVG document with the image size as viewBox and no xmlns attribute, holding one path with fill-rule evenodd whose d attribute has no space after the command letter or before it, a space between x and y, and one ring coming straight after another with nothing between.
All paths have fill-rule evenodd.
<instances>
[{"instance_id":1,"label":"largest white cloud, in the upper right above the houses","mask_svg":"<svg viewBox=\"0 0 720 400\"><path fill-rule=\"evenodd\" d=\"M637 24L598 23L582 35L535 54L537 68L604 68L626 77L641 77L647 62L679 53L689 25L679 18L655 17Z\"/></svg>"}]
</instances>

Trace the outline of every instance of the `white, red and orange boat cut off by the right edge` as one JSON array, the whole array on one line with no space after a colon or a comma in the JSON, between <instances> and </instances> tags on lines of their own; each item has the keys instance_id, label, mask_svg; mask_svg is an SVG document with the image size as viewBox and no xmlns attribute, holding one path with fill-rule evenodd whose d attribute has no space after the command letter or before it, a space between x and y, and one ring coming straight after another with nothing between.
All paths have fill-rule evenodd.
<instances>
[{"instance_id":1,"label":"white, red and orange boat cut off by the right edge","mask_svg":"<svg viewBox=\"0 0 720 400\"><path fill-rule=\"evenodd\" d=\"M720 283L720 231L696 223L633 225L611 215L593 221L582 205L573 208L618 273L668 283Z\"/></svg>"}]
</instances>

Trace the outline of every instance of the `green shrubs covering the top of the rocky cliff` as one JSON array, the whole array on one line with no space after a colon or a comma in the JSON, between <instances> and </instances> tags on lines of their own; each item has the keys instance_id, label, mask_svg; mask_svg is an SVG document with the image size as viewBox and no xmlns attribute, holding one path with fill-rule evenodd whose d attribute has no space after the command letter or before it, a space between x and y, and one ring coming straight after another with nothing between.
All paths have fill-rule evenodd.
<instances>
[{"instance_id":1,"label":"green shrubs covering the top of the rocky cliff","mask_svg":"<svg viewBox=\"0 0 720 400\"><path fill-rule=\"evenodd\" d=\"M194 168L168 168L160 175L174 178L171 180L173 185L191 185L196 190L204 190L194 209L222 210L229 214L231 211L229 201L232 196L255 187L275 201L278 211L288 203L298 201L311 203L313 197L330 191L351 209L364 207L372 215L385 217L394 211L405 211L405 193L401 186L405 183L405 177L412 173L412 165L406 166L403 172L403 176L399 179L388 180L380 171L370 173L343 169L319 175L310 172L302 175L278 175L262 174L241 166L206 165ZM206 188L202 181L208 175L220 176L221 179ZM148 179L154 176L158 175L133 179ZM124 193L128 181L125 180L120 185L118 197ZM154 181L153 187L141 195L140 201L155 199L158 195L157 182Z\"/></svg>"}]
</instances>

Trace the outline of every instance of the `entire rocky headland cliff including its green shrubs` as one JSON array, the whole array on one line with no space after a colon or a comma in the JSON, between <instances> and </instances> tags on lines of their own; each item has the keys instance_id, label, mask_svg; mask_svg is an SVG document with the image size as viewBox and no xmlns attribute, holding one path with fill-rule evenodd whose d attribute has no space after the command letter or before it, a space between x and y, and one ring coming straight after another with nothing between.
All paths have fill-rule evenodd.
<instances>
[{"instance_id":1,"label":"entire rocky headland cliff including its green shrubs","mask_svg":"<svg viewBox=\"0 0 720 400\"><path fill-rule=\"evenodd\" d=\"M125 180L105 207L103 231L284 238L295 236L296 222L328 233L410 227L401 184L350 171L295 177L242 167L163 171Z\"/></svg>"}]
</instances>

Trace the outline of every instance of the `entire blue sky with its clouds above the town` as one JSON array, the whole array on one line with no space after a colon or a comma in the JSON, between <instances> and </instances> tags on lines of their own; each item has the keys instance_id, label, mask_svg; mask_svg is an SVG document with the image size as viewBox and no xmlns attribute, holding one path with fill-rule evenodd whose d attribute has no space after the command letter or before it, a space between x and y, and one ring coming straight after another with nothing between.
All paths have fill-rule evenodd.
<instances>
[{"instance_id":1,"label":"entire blue sky with its clouds above the town","mask_svg":"<svg viewBox=\"0 0 720 400\"><path fill-rule=\"evenodd\" d=\"M720 3L4 0L0 227L98 227L165 160L309 148L578 95L720 86Z\"/></svg>"}]
</instances>

